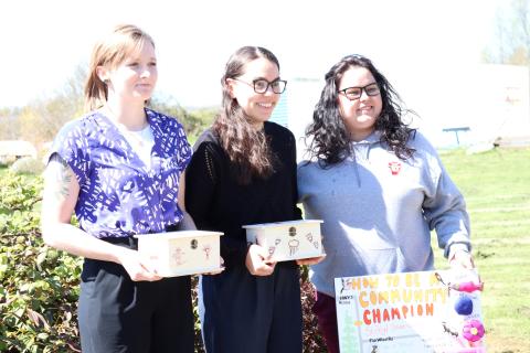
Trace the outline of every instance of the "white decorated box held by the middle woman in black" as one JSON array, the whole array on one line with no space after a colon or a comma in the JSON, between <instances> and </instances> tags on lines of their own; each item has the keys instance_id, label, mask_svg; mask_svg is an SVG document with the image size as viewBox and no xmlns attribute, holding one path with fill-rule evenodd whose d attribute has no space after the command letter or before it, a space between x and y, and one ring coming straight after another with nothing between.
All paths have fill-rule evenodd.
<instances>
[{"instance_id":1,"label":"white decorated box held by the middle woman in black","mask_svg":"<svg viewBox=\"0 0 530 353\"><path fill-rule=\"evenodd\" d=\"M267 249L275 261L288 261L325 255L320 220L286 221L244 225L248 244Z\"/></svg>"}]
</instances>

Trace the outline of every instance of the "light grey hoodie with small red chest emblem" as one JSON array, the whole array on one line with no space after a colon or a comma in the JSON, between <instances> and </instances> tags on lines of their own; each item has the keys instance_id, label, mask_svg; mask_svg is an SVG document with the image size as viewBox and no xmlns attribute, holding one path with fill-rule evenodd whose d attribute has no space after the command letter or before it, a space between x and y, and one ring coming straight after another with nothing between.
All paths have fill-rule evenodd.
<instances>
[{"instance_id":1,"label":"light grey hoodie with small red chest emblem","mask_svg":"<svg viewBox=\"0 0 530 353\"><path fill-rule=\"evenodd\" d=\"M431 231L445 257L469 252L464 199L433 146L418 132L403 161L380 142L379 132L352 142L354 153L322 169L298 164L305 217L324 220L326 259L311 267L317 290L335 297L338 277L433 269Z\"/></svg>"}]
</instances>

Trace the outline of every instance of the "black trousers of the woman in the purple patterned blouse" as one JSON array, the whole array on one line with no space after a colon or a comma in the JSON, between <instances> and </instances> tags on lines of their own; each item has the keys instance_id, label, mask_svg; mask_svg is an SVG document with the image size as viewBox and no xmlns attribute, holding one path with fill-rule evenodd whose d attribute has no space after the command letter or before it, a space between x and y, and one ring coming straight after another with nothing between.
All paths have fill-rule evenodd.
<instances>
[{"instance_id":1,"label":"black trousers of the woman in the purple patterned blouse","mask_svg":"<svg viewBox=\"0 0 530 353\"><path fill-rule=\"evenodd\" d=\"M85 259L81 277L83 353L193 353L189 276L132 281L121 265Z\"/></svg>"}]
</instances>

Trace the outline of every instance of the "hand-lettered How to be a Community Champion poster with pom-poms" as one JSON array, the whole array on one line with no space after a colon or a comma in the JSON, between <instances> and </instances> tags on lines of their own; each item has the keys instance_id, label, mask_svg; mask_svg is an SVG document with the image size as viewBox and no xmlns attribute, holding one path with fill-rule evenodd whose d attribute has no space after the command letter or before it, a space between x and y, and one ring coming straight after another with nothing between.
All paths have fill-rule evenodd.
<instances>
[{"instance_id":1,"label":"hand-lettered How to be a Community Champion poster with pom-poms","mask_svg":"<svg viewBox=\"0 0 530 353\"><path fill-rule=\"evenodd\" d=\"M485 353L475 270L335 279L341 353Z\"/></svg>"}]
</instances>

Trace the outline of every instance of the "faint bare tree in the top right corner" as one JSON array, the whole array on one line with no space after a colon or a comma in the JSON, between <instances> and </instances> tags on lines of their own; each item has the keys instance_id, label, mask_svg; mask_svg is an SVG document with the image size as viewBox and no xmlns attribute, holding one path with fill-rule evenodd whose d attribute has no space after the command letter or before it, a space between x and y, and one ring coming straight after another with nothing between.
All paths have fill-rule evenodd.
<instances>
[{"instance_id":1,"label":"faint bare tree in the top right corner","mask_svg":"<svg viewBox=\"0 0 530 353\"><path fill-rule=\"evenodd\" d=\"M496 41L484 51L484 61L530 65L530 0L512 0L496 14Z\"/></svg>"}]
</instances>

